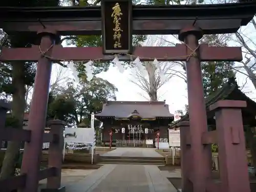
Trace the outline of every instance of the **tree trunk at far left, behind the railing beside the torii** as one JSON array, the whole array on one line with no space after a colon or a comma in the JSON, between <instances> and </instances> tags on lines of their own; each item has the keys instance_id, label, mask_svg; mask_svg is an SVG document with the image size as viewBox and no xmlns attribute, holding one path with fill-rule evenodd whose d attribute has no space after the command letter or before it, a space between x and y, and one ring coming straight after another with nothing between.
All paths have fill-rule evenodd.
<instances>
[{"instance_id":1,"label":"tree trunk at far left, behind the railing beside the torii","mask_svg":"<svg viewBox=\"0 0 256 192\"><path fill-rule=\"evenodd\" d=\"M16 129L23 129L25 110L25 83L24 83L24 62L13 63L12 86L14 87L12 100L12 116L18 120ZM15 160L19 153L20 142L8 141L0 178L6 179L14 175Z\"/></svg>"}]
</instances>

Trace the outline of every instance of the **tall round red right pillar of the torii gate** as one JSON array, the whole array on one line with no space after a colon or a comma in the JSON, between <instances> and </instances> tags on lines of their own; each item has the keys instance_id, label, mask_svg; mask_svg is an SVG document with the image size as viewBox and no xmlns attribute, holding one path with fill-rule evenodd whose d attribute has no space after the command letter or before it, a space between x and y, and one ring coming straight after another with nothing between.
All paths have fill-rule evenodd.
<instances>
[{"instance_id":1,"label":"tall round red right pillar of the torii gate","mask_svg":"<svg viewBox=\"0 0 256 192\"><path fill-rule=\"evenodd\" d=\"M184 41L186 61L188 112L191 134L191 174L194 191L205 192L206 180L210 178L211 150L210 145L202 144L202 134L207 131L207 116L203 93L201 61L198 51L198 40L203 32L195 26L180 31L179 39Z\"/></svg>"}]
</instances>

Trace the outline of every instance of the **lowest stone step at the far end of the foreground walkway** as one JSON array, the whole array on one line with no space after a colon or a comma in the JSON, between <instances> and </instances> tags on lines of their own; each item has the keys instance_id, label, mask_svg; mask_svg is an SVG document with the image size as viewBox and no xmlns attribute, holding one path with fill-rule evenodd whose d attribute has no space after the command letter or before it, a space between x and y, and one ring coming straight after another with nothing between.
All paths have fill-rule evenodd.
<instances>
[{"instance_id":1,"label":"lowest stone step at the far end of the foreground walkway","mask_svg":"<svg viewBox=\"0 0 256 192\"><path fill-rule=\"evenodd\" d=\"M148 159L101 159L99 163L123 163L123 164L165 164L164 160Z\"/></svg>"}]
</instances>

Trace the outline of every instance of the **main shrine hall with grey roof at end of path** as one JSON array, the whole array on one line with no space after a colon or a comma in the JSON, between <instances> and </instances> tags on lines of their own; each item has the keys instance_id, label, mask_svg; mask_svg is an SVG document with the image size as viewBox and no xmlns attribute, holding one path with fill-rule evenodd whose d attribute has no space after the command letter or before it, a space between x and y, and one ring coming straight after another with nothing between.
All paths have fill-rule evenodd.
<instances>
[{"instance_id":1,"label":"main shrine hall with grey roof at end of path","mask_svg":"<svg viewBox=\"0 0 256 192\"><path fill-rule=\"evenodd\" d=\"M174 120L165 100L107 101L95 117L103 122L103 145L112 140L117 147L154 147L146 142L157 141L157 133L159 142L168 142L168 125Z\"/></svg>"}]
</instances>

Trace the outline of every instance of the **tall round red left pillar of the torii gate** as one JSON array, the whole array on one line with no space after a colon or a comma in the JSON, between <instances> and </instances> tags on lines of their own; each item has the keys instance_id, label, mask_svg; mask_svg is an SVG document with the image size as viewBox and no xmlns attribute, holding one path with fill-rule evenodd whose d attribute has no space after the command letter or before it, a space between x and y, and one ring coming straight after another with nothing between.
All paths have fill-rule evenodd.
<instances>
[{"instance_id":1,"label":"tall round red left pillar of the torii gate","mask_svg":"<svg viewBox=\"0 0 256 192\"><path fill-rule=\"evenodd\" d=\"M40 50L45 55L51 55L51 47L55 44L54 32L40 32ZM39 51L39 49L38 49ZM31 140L26 142L22 161L21 173L26 174L26 186L23 192L37 191L38 170L42 153L42 137L46 125L46 112L50 78L52 71L51 59L41 56L38 59L34 90L32 95L28 129L31 130Z\"/></svg>"}]
</instances>

